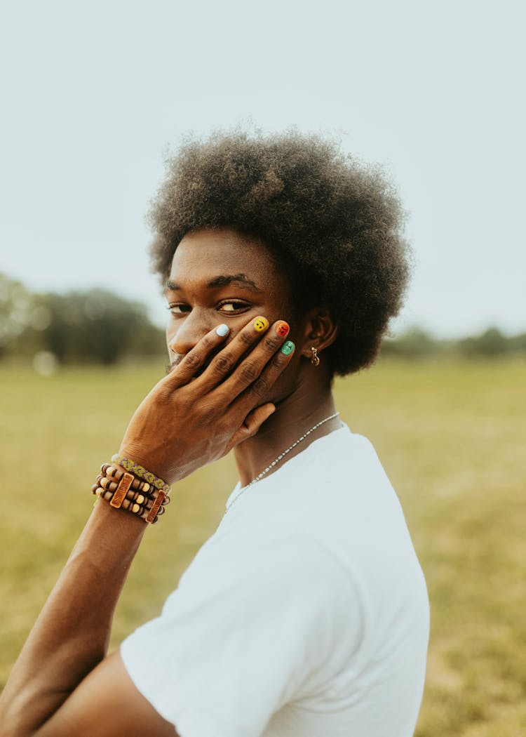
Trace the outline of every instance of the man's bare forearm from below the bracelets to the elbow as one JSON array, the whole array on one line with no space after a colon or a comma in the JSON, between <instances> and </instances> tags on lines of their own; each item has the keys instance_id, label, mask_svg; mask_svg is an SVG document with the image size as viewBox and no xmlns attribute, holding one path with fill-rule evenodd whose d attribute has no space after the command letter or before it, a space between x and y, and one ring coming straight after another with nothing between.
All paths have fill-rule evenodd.
<instances>
[{"instance_id":1,"label":"man's bare forearm from below the bracelets to the elbow","mask_svg":"<svg viewBox=\"0 0 526 737\"><path fill-rule=\"evenodd\" d=\"M34 733L105 657L113 612L146 528L132 514L97 504L1 696L6 734Z\"/></svg>"}]
</instances>

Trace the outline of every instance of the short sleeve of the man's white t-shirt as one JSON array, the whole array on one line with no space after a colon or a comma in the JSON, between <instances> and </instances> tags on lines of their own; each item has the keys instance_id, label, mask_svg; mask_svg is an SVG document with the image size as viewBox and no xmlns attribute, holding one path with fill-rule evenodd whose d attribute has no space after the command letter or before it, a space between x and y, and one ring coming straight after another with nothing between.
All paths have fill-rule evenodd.
<instances>
[{"instance_id":1,"label":"short sleeve of the man's white t-shirt","mask_svg":"<svg viewBox=\"0 0 526 737\"><path fill-rule=\"evenodd\" d=\"M318 541L229 537L201 548L161 616L121 646L136 687L181 737L259 737L360 641L351 577Z\"/></svg>"}]
</instances>

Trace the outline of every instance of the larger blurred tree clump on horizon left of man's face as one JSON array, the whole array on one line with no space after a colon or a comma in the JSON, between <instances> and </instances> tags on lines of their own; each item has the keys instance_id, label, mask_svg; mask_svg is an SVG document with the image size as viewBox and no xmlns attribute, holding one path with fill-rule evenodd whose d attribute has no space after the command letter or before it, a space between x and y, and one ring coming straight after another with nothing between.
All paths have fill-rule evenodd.
<instances>
[{"instance_id":1,"label":"larger blurred tree clump on horizon left of man's face","mask_svg":"<svg viewBox=\"0 0 526 737\"><path fill-rule=\"evenodd\" d=\"M143 304L102 289L32 294L0 274L0 359L47 353L57 363L102 363L166 352Z\"/></svg>"}]
</instances>

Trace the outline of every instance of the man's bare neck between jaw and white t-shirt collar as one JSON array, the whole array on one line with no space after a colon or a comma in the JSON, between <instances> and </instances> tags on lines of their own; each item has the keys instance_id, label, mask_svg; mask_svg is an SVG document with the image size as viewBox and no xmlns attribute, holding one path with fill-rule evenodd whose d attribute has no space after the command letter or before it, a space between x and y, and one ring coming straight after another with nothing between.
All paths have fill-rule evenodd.
<instances>
[{"instance_id":1,"label":"man's bare neck between jaw and white t-shirt collar","mask_svg":"<svg viewBox=\"0 0 526 737\"><path fill-rule=\"evenodd\" d=\"M290 397L276 402L276 412L262 425L259 433L237 446L234 451L241 485L247 486L307 430L335 411L330 388L314 394L298 388ZM340 426L338 417L325 422L287 453L286 459L281 462L285 463L305 450L312 441L328 435ZM279 464L276 465L276 469L278 468ZM272 471L269 475L270 473Z\"/></svg>"}]
</instances>

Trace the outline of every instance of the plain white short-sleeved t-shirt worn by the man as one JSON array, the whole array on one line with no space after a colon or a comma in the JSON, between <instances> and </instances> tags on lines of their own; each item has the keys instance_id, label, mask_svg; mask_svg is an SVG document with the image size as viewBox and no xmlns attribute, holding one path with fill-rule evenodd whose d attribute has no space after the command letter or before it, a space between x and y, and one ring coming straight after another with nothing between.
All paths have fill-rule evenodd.
<instances>
[{"instance_id":1,"label":"plain white short-sleeved t-shirt worn by the man","mask_svg":"<svg viewBox=\"0 0 526 737\"><path fill-rule=\"evenodd\" d=\"M121 654L181 737L409 737L428 636L399 500L343 426L239 495Z\"/></svg>"}]
</instances>

